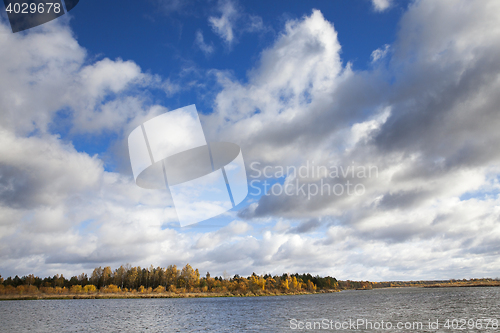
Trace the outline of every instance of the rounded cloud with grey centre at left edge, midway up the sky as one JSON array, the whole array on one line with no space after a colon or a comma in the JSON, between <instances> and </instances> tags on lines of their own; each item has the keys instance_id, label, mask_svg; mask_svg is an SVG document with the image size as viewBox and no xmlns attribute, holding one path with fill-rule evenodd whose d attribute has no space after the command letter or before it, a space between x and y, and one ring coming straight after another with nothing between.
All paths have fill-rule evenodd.
<instances>
[{"instance_id":1,"label":"rounded cloud with grey centre at left edge, midway up the sky","mask_svg":"<svg viewBox=\"0 0 500 333\"><path fill-rule=\"evenodd\" d=\"M56 137L19 138L0 130L0 203L32 208L97 190L102 162Z\"/></svg>"}]
</instances>

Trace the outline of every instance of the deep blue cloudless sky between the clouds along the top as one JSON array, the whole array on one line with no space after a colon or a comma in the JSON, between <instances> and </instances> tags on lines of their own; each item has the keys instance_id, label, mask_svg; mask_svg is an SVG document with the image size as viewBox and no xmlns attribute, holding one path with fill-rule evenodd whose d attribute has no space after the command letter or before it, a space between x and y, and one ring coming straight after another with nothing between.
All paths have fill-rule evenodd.
<instances>
[{"instance_id":1,"label":"deep blue cloudless sky between the clouds along the top","mask_svg":"<svg viewBox=\"0 0 500 333\"><path fill-rule=\"evenodd\" d=\"M215 2L182 3L155 0L138 6L135 1L122 1L116 6L104 1L96 10L95 4L82 1L71 13L70 26L89 58L131 60L144 72L181 86L180 91L169 95L161 89L149 89L147 94L155 103L169 109L196 104L201 112L211 113L217 87L213 87L216 82L207 71L228 71L236 80L247 81L247 72L258 63L262 50L282 33L286 21L310 15L313 9L321 10L339 33L342 61L350 62L354 69L367 70L372 51L394 42L398 21L408 6L408 1L401 1L392 4L390 10L377 12L370 1L295 1L272 6L267 1L234 3L239 12L233 26L235 40L227 43L209 22L209 17L220 15ZM245 31L250 17L259 18L262 27ZM198 33L213 52L206 54L200 49ZM197 85L191 88L194 82ZM64 129L55 132L63 134ZM73 144L89 154L102 154L113 139L106 135L78 137L73 138ZM106 169L113 166L109 161Z\"/></svg>"}]
</instances>

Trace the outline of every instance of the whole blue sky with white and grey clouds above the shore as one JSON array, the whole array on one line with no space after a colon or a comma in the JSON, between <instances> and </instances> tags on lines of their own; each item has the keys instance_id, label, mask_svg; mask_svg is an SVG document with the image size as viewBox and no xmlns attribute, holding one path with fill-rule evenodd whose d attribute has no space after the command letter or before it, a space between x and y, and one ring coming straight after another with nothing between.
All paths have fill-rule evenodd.
<instances>
[{"instance_id":1,"label":"whole blue sky with white and grey clouds above the shore","mask_svg":"<svg viewBox=\"0 0 500 333\"><path fill-rule=\"evenodd\" d=\"M498 59L495 0L81 0L15 34L2 10L0 274L500 277ZM180 227L127 138L191 104L249 195Z\"/></svg>"}]
</instances>

